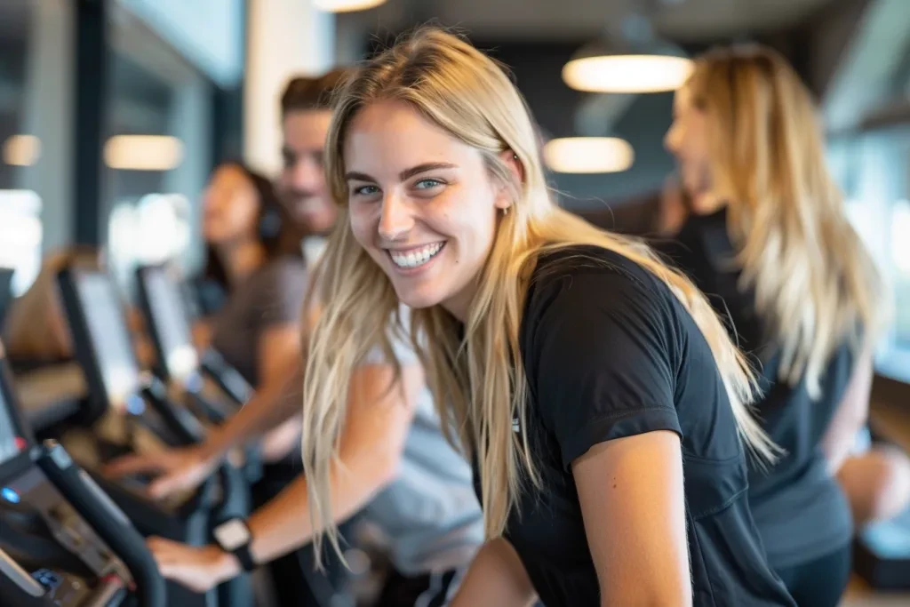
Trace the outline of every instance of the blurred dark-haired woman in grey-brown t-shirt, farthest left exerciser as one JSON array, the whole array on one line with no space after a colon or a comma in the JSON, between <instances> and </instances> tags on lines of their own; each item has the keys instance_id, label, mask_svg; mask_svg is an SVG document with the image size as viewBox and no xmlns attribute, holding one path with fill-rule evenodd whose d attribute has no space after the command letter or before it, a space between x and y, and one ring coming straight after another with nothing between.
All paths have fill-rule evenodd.
<instances>
[{"instance_id":1,"label":"blurred dark-haired woman in grey-brown t-shirt, farthest left exerciser","mask_svg":"<svg viewBox=\"0 0 910 607\"><path fill-rule=\"evenodd\" d=\"M307 273L299 235L268 179L236 162L215 169L203 205L206 276L227 294L206 341L255 389L283 381L286 361L300 355ZM293 423L276 430L267 459L291 449L297 433Z\"/></svg>"}]
</instances>

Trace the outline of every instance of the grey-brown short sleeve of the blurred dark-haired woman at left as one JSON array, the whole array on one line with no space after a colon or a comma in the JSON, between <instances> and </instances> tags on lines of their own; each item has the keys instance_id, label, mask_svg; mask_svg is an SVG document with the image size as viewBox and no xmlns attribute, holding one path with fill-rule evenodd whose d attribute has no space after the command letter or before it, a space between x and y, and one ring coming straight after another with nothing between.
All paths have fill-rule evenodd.
<instances>
[{"instance_id":1,"label":"grey-brown short sleeve of the blurred dark-haired woman at left","mask_svg":"<svg viewBox=\"0 0 910 607\"><path fill-rule=\"evenodd\" d=\"M251 294L256 298L252 311L258 329L298 323L308 284L307 267L303 260L277 259L257 278L256 284L247 288L255 289L255 293Z\"/></svg>"}]
</instances>

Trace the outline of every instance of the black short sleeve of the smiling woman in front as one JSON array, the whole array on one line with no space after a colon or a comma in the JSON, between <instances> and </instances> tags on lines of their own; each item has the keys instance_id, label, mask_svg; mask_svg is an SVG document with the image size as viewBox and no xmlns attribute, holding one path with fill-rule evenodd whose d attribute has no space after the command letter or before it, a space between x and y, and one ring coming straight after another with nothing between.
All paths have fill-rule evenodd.
<instances>
[{"instance_id":1,"label":"black short sleeve of the smiling woman in front","mask_svg":"<svg viewBox=\"0 0 910 607\"><path fill-rule=\"evenodd\" d=\"M566 470L600 442L654 430L682 436L669 290L603 270L560 278L538 295L526 364Z\"/></svg>"}]
</instances>

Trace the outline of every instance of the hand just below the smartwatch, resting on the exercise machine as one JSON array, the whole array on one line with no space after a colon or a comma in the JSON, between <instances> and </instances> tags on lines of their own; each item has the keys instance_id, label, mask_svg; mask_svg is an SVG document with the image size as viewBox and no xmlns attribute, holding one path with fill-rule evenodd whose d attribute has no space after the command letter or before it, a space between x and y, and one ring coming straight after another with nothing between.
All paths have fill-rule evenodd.
<instances>
[{"instance_id":1,"label":"hand just below the smartwatch, resting on the exercise machine","mask_svg":"<svg viewBox=\"0 0 910 607\"><path fill-rule=\"evenodd\" d=\"M206 592L240 573L237 557L217 546L197 548L156 537L146 543L161 575L193 592Z\"/></svg>"}]
</instances>

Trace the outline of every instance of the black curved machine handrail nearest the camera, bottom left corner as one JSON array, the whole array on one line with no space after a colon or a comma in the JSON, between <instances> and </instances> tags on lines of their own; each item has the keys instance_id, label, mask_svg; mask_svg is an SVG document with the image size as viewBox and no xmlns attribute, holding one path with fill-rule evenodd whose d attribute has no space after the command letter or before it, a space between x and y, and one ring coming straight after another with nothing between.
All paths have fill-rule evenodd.
<instances>
[{"instance_id":1,"label":"black curved machine handrail nearest the camera, bottom left corner","mask_svg":"<svg viewBox=\"0 0 910 607\"><path fill-rule=\"evenodd\" d=\"M167 607L165 579L145 540L101 489L54 440L35 448L35 463L44 470L74 509L126 564L136 582L139 607Z\"/></svg>"}]
</instances>

